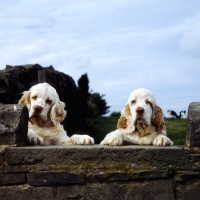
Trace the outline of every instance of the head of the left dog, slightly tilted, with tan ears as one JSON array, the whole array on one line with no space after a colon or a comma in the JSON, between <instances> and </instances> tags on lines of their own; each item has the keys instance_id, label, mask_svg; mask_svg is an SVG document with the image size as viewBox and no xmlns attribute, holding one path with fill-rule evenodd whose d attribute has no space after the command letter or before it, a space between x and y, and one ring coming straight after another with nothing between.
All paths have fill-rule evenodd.
<instances>
[{"instance_id":1,"label":"head of the left dog, slightly tilted, with tan ears","mask_svg":"<svg viewBox=\"0 0 200 200\"><path fill-rule=\"evenodd\" d=\"M25 104L32 122L52 123L56 126L65 116L65 104L60 101L56 90L48 83L39 83L25 91L19 104Z\"/></svg>"}]
</instances>

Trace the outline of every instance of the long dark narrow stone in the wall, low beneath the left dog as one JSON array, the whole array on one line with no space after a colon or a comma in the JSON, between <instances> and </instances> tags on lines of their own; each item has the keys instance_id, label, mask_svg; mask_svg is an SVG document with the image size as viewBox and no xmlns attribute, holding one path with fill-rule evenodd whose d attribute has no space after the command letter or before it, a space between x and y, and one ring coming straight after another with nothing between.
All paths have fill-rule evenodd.
<instances>
[{"instance_id":1,"label":"long dark narrow stone in the wall, low beneath the left dog","mask_svg":"<svg viewBox=\"0 0 200 200\"><path fill-rule=\"evenodd\" d=\"M72 174L69 172L31 172L26 175L27 183L33 186L84 183L84 177L81 174Z\"/></svg>"}]
</instances>

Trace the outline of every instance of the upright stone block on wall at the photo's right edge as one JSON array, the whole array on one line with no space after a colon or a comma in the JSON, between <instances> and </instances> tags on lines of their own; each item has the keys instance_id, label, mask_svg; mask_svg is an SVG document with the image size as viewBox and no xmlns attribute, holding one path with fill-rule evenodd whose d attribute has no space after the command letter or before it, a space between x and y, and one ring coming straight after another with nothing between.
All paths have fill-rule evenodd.
<instances>
[{"instance_id":1,"label":"upright stone block on wall at the photo's right edge","mask_svg":"<svg viewBox=\"0 0 200 200\"><path fill-rule=\"evenodd\" d=\"M192 102L188 107L186 145L200 147L200 102Z\"/></svg>"}]
</instances>

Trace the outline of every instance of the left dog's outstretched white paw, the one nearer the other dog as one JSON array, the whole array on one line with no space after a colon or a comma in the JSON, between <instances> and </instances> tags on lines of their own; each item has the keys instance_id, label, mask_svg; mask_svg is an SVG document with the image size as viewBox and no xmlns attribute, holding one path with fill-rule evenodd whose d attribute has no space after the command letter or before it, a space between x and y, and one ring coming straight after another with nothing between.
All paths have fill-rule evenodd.
<instances>
[{"instance_id":1,"label":"left dog's outstretched white paw, the one nearer the other dog","mask_svg":"<svg viewBox=\"0 0 200 200\"><path fill-rule=\"evenodd\" d=\"M72 144L93 145L94 139L88 135L72 135L70 138Z\"/></svg>"}]
</instances>

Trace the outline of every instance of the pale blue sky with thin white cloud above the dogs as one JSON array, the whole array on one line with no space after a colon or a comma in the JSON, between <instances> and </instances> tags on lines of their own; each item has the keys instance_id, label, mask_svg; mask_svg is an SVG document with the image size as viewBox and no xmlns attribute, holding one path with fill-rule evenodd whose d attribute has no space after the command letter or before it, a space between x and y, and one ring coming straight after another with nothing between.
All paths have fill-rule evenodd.
<instances>
[{"instance_id":1,"label":"pale blue sky with thin white cloud above the dogs","mask_svg":"<svg viewBox=\"0 0 200 200\"><path fill-rule=\"evenodd\" d=\"M87 73L110 113L141 87L165 115L187 111L200 101L200 1L0 0L0 55L0 70Z\"/></svg>"}]
</instances>

